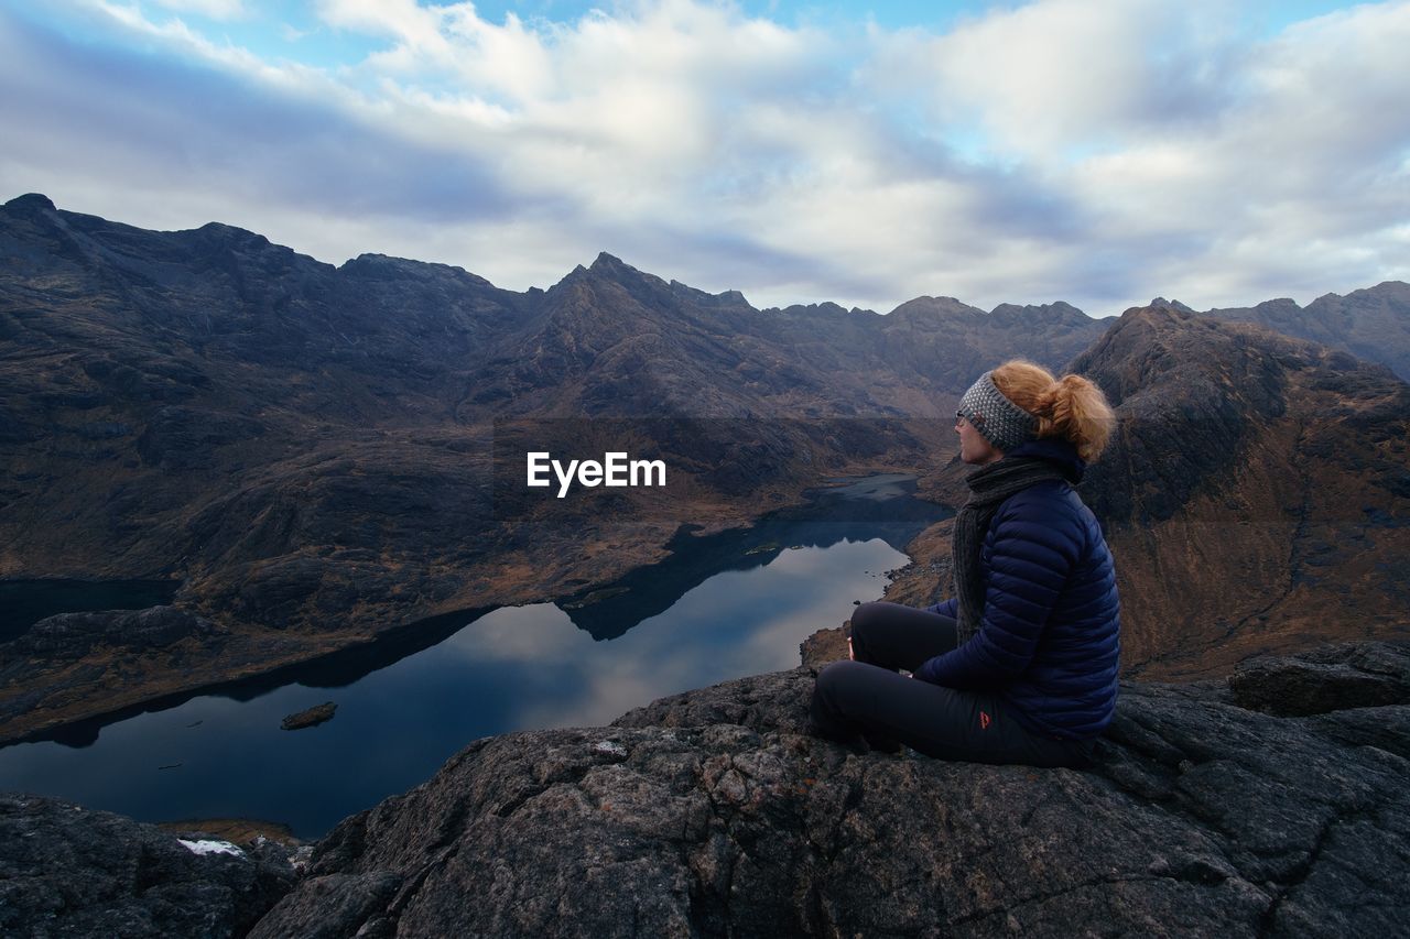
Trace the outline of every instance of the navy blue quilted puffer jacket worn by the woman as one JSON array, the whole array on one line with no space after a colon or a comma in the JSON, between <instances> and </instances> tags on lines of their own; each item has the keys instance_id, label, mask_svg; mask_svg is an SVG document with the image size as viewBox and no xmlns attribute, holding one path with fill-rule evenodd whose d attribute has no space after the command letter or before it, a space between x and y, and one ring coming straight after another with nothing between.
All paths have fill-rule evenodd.
<instances>
[{"instance_id":1,"label":"navy blue quilted puffer jacket worn by the woman","mask_svg":"<svg viewBox=\"0 0 1410 939\"><path fill-rule=\"evenodd\" d=\"M1007 457L1049 460L1073 482L1086 464L1065 440L1035 440ZM1070 485L1046 481L1010 496L984 534L984 618L959 649L915 677L998 691L1029 730L1094 737L1117 704L1121 603L1111 551ZM929 609L955 616L956 601Z\"/></svg>"}]
</instances>

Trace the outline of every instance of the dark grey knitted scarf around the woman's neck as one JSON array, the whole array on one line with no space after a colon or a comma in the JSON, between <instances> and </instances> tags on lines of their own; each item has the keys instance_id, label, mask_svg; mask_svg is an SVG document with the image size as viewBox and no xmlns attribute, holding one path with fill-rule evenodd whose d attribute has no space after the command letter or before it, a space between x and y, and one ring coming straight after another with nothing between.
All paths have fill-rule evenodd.
<instances>
[{"instance_id":1,"label":"dark grey knitted scarf around the woman's neck","mask_svg":"<svg viewBox=\"0 0 1410 939\"><path fill-rule=\"evenodd\" d=\"M1048 460L1008 457L980 467L966 477L970 498L955 516L955 541L950 556L955 565L955 595L959 598L955 632L957 646L967 643L984 618L984 571L980 554L984 533L1004 499L1043 479L1067 477Z\"/></svg>"}]
</instances>

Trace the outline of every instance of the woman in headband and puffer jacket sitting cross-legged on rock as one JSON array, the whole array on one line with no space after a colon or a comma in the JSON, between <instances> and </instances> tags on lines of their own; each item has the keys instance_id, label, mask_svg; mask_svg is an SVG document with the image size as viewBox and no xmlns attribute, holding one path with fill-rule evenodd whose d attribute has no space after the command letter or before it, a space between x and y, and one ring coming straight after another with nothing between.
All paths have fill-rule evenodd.
<instances>
[{"instance_id":1,"label":"woman in headband and puffer jacket sitting cross-legged on rock","mask_svg":"<svg viewBox=\"0 0 1410 939\"><path fill-rule=\"evenodd\" d=\"M814 732L948 760L1080 766L1117 701L1120 603L1073 485L1105 446L1111 409L1086 378L1012 361L964 392L955 430L960 460L979 467L955 519L955 599L859 606L852 661L818 675Z\"/></svg>"}]
</instances>

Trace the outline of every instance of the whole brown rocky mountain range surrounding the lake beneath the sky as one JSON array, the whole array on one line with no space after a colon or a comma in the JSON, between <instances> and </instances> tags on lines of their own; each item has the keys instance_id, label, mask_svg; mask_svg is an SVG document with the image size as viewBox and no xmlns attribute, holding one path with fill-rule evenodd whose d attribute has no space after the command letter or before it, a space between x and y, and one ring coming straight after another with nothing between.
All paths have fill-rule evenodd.
<instances>
[{"instance_id":1,"label":"whole brown rocky mountain range surrounding the lake beneath the sky","mask_svg":"<svg viewBox=\"0 0 1410 939\"><path fill-rule=\"evenodd\" d=\"M0 579L179 581L188 623L131 642L90 625L73 647L72 625L0 634L0 739L455 609L582 595L660 560L682 524L746 524L826 477L912 471L956 505L949 416L1011 357L1070 362L1118 407L1083 492L1120 558L1132 670L1224 668L1348 603L1365 634L1404 630L1404 283L1299 316L759 310L606 254L513 292L38 195L0 207ZM1335 312L1330 344L1234 321L1307 333L1317 312ZM527 516L496 502L513 471L496 440L595 446L613 422L684 478ZM922 536L897 596L943 589L943 526Z\"/></svg>"}]
</instances>

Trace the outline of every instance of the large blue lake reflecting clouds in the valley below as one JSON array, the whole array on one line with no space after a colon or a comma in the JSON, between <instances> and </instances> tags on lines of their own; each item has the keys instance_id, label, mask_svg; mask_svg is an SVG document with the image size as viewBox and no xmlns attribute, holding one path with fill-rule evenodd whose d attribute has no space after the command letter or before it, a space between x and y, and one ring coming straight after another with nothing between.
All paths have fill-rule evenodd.
<instances>
[{"instance_id":1,"label":"large blue lake reflecting clouds in the valley below","mask_svg":"<svg viewBox=\"0 0 1410 939\"><path fill-rule=\"evenodd\" d=\"M870 478L749 532L682 536L671 558L596 596L440 618L302 671L6 747L0 790L316 837L477 737L602 725L661 695L797 665L798 643L880 596L884 572L907 561L900 547L942 517L912 489ZM279 729L324 701L338 705L329 723Z\"/></svg>"}]
</instances>

